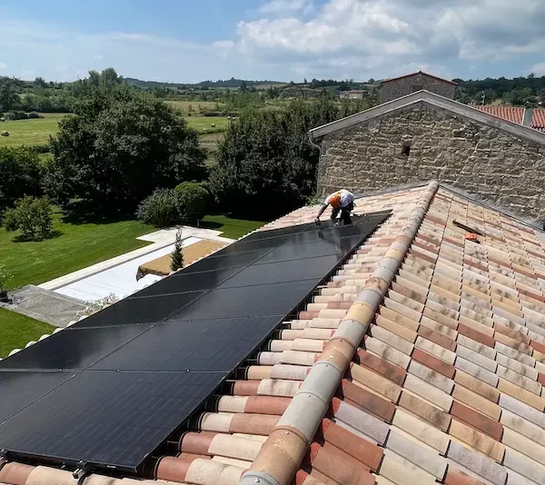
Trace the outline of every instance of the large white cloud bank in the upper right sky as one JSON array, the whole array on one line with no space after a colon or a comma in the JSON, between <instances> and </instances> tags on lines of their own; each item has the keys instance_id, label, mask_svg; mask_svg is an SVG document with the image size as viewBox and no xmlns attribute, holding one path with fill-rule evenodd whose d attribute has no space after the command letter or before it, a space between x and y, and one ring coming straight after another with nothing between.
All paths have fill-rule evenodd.
<instances>
[{"instance_id":1,"label":"large white cloud bank in the upper right sky","mask_svg":"<svg viewBox=\"0 0 545 485\"><path fill-rule=\"evenodd\" d=\"M279 5L279 11L284 4L277 0L267 5L272 3ZM302 2L291 4L296 9ZM315 61L320 60L322 65L330 64L333 77L339 77L333 60L350 56L360 58L351 77L367 72L362 70L365 64L374 65L384 76L407 64L451 72L445 64L506 62L520 55L545 54L543 25L543 0L517 4L510 0L328 0L310 16L286 11L275 18L240 22L237 47L261 59L282 57L282 63L287 60L295 72L306 65L306 72L312 73ZM377 55L381 62L377 63Z\"/></svg>"}]
</instances>

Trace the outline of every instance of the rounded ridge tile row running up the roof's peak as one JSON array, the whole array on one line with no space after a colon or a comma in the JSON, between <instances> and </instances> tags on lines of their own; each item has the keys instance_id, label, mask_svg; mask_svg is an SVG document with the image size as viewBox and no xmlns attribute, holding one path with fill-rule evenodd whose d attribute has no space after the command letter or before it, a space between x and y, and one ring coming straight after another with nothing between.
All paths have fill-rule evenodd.
<instances>
[{"instance_id":1,"label":"rounded ridge tile row running up the roof's peak","mask_svg":"<svg viewBox=\"0 0 545 485\"><path fill-rule=\"evenodd\" d=\"M421 193L401 231L378 262L372 277L365 283L239 483L291 483L329 409L333 393L341 383L438 189L439 183L432 181Z\"/></svg>"}]
</instances>

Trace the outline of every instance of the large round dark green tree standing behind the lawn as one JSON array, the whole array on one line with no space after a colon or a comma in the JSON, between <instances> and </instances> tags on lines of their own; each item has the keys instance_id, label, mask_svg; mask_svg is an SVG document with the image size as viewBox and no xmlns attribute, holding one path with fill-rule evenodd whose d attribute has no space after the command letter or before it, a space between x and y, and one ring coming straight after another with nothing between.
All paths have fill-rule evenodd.
<instances>
[{"instance_id":1,"label":"large round dark green tree standing behind the lawn","mask_svg":"<svg viewBox=\"0 0 545 485\"><path fill-rule=\"evenodd\" d=\"M98 82L100 86L100 82ZM123 85L95 89L60 123L52 140L57 199L77 197L104 210L134 210L156 187L202 180L196 132L151 94Z\"/></svg>"}]
</instances>

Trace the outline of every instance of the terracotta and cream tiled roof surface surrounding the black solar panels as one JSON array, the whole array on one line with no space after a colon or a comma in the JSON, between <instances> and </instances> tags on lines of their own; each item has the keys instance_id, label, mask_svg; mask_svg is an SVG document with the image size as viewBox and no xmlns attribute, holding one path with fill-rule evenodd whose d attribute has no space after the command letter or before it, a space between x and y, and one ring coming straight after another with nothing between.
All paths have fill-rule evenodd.
<instances>
[{"instance_id":1,"label":"terracotta and cream tiled roof surface surrounding the black solar panels","mask_svg":"<svg viewBox=\"0 0 545 485\"><path fill-rule=\"evenodd\" d=\"M82 483L545 483L545 234L437 183L361 199L356 213L384 209L390 219L193 420L157 481ZM76 480L8 462L0 483Z\"/></svg>"}]
</instances>

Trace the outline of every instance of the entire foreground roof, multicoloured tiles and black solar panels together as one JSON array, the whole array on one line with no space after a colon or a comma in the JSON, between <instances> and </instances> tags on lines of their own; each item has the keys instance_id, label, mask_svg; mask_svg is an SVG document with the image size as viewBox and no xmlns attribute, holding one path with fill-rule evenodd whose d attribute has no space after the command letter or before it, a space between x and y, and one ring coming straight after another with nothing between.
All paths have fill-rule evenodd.
<instances>
[{"instance_id":1,"label":"entire foreground roof, multicoloured tiles and black solar panels together","mask_svg":"<svg viewBox=\"0 0 545 485\"><path fill-rule=\"evenodd\" d=\"M545 233L437 182L356 203L2 361L0 483L545 483Z\"/></svg>"}]
</instances>

